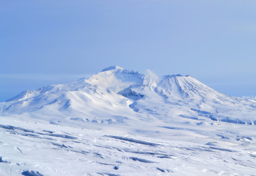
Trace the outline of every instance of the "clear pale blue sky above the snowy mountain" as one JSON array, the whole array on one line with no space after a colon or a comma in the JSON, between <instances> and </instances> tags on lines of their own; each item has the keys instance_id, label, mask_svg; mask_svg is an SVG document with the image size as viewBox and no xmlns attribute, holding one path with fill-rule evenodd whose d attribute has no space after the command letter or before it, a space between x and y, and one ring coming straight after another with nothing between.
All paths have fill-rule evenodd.
<instances>
[{"instance_id":1,"label":"clear pale blue sky above the snowy mountain","mask_svg":"<svg viewBox=\"0 0 256 176\"><path fill-rule=\"evenodd\" d=\"M118 65L256 95L255 0L0 1L0 101Z\"/></svg>"}]
</instances>

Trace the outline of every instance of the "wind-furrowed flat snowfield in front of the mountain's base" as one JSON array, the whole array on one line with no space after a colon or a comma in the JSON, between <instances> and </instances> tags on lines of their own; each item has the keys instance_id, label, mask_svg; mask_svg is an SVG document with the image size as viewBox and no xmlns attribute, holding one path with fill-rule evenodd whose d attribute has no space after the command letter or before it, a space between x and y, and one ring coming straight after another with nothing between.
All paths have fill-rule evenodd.
<instances>
[{"instance_id":1,"label":"wind-furrowed flat snowfield in front of the mountain's base","mask_svg":"<svg viewBox=\"0 0 256 176\"><path fill-rule=\"evenodd\" d=\"M250 125L189 119L158 127L88 122L78 128L24 117L0 117L0 123L0 175L255 175L256 170Z\"/></svg>"}]
</instances>

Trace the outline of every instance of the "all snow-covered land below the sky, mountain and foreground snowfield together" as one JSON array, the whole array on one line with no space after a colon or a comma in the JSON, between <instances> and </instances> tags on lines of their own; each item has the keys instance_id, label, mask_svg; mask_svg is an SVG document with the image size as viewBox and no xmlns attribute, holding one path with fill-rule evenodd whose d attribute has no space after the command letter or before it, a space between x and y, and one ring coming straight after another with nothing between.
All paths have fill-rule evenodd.
<instances>
[{"instance_id":1,"label":"all snow-covered land below the sky, mountain and foreground snowfield together","mask_svg":"<svg viewBox=\"0 0 256 176\"><path fill-rule=\"evenodd\" d=\"M118 66L0 103L0 175L255 175L256 101Z\"/></svg>"}]
</instances>

